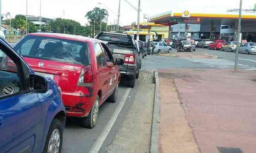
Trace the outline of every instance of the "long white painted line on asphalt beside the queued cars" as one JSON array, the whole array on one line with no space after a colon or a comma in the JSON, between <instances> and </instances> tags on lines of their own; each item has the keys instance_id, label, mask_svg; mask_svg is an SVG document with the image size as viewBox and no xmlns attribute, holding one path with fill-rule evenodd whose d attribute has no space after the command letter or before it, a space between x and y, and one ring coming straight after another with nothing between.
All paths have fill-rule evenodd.
<instances>
[{"instance_id":1,"label":"long white painted line on asphalt beside the queued cars","mask_svg":"<svg viewBox=\"0 0 256 153\"><path fill-rule=\"evenodd\" d=\"M106 127L104 128L104 130L102 131L102 133L100 134L99 138L97 139L97 141L95 142L95 144L93 145L93 147L91 148L89 153L98 153L99 149L101 148L104 140L107 138L112 126L114 125L116 118L118 117L120 111L122 110L122 107L126 101L126 98L128 97L130 91L132 88L127 88L120 103L118 104L118 106L116 107L116 110L114 112L114 114L112 115L112 117L110 118L108 124L106 125Z\"/></svg>"}]
</instances>

